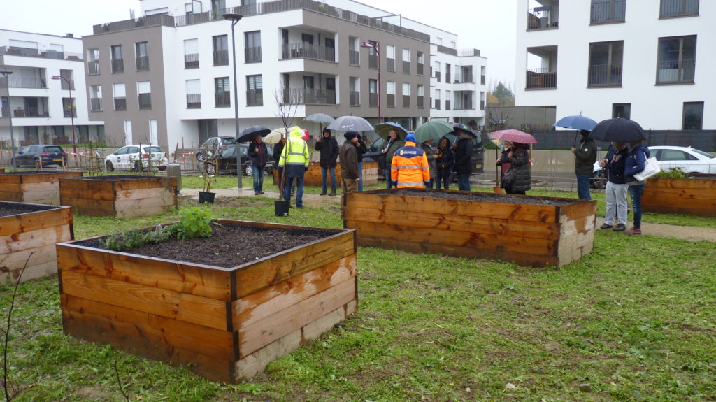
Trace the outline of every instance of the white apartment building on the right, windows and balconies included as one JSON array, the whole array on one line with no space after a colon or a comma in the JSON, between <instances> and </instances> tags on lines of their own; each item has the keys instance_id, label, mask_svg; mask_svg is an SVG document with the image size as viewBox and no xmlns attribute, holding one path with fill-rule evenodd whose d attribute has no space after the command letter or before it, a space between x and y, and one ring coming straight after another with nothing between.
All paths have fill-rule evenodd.
<instances>
[{"instance_id":1,"label":"white apartment building on the right, windows and balconies included","mask_svg":"<svg viewBox=\"0 0 716 402\"><path fill-rule=\"evenodd\" d=\"M716 129L716 1L518 0L516 104Z\"/></svg>"}]
</instances>

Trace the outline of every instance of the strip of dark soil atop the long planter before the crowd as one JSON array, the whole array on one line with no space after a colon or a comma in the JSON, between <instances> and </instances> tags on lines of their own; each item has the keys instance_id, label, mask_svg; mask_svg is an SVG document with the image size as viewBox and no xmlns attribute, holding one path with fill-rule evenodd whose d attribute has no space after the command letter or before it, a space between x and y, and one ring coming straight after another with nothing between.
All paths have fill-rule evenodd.
<instances>
[{"instance_id":1,"label":"strip of dark soil atop the long planter before the crowd","mask_svg":"<svg viewBox=\"0 0 716 402\"><path fill-rule=\"evenodd\" d=\"M384 190L375 191L371 194L397 195L399 197L427 197L440 198L442 200L466 200L466 201L483 201L483 202L508 202L513 204L531 204L531 205L551 205L558 207L561 205L574 204L577 200L565 200L561 198L551 197L524 197L509 194L494 194L491 192L448 192L442 190L414 190L403 188L400 190Z\"/></svg>"}]
</instances>

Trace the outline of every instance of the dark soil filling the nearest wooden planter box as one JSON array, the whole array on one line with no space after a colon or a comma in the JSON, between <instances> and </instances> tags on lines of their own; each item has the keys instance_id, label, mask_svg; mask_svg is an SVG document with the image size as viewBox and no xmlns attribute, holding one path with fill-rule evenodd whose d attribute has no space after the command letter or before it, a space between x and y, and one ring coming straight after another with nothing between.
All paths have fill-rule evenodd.
<instances>
[{"instance_id":1,"label":"dark soil filling the nearest wooden planter box","mask_svg":"<svg viewBox=\"0 0 716 402\"><path fill-rule=\"evenodd\" d=\"M123 253L232 268L336 234L320 230L259 228L240 225L215 225L211 233L211 237L170 239L165 242L135 247ZM78 242L77 244L105 248L97 240Z\"/></svg>"}]
</instances>

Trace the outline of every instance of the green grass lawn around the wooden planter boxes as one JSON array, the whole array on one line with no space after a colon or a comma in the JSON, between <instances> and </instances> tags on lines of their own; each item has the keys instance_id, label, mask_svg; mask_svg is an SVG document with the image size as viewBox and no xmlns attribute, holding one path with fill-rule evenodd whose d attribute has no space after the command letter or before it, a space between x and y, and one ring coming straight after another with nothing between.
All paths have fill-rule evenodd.
<instances>
[{"instance_id":1,"label":"green grass lawn around the wooden planter boxes","mask_svg":"<svg viewBox=\"0 0 716 402\"><path fill-rule=\"evenodd\" d=\"M184 187L200 187L188 179ZM220 185L236 187L236 177ZM595 197L601 215L604 195ZM258 197L211 208L218 217L342 227L337 202L287 217ZM75 237L175 218L76 215ZM682 215L644 221L716 227ZM715 255L714 242L611 230L561 269L359 247L359 308L345 328L238 385L63 335L54 276L19 286L9 376L27 387L15 401L715 401ZM5 314L12 293L0 287Z\"/></svg>"}]
</instances>

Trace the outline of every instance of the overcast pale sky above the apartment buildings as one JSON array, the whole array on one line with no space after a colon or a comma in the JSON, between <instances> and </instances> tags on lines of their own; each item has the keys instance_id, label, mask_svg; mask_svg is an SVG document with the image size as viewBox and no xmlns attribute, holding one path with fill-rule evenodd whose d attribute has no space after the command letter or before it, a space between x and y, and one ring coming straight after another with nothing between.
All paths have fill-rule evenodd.
<instances>
[{"instance_id":1,"label":"overcast pale sky above the apartment buildings","mask_svg":"<svg viewBox=\"0 0 716 402\"><path fill-rule=\"evenodd\" d=\"M92 34L92 25L139 16L139 0L11 1L0 12L0 28L39 34ZM360 0L363 4L458 34L458 48L480 49L488 58L488 84L515 80L514 0ZM5 5L7 8L9 4Z\"/></svg>"}]
</instances>

